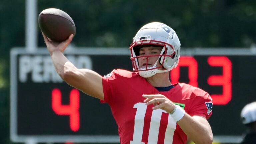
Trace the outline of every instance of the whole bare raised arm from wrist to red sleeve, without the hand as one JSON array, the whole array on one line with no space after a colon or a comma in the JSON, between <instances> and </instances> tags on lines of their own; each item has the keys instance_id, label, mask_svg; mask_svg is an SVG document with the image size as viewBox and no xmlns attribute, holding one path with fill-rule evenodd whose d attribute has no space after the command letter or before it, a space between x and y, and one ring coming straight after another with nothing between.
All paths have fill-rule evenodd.
<instances>
[{"instance_id":1,"label":"whole bare raised arm from wrist to red sleeve, without the hand","mask_svg":"<svg viewBox=\"0 0 256 144\"><path fill-rule=\"evenodd\" d=\"M52 52L52 60L60 77L87 95L104 100L102 77L89 69L77 69L60 51Z\"/></svg>"}]
</instances>

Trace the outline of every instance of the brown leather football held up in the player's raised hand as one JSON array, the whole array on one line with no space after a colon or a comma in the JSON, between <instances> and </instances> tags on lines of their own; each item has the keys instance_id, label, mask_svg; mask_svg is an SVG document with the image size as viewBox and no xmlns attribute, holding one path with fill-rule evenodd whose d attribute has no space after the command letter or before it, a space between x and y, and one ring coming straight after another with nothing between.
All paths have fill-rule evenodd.
<instances>
[{"instance_id":1,"label":"brown leather football held up in the player's raised hand","mask_svg":"<svg viewBox=\"0 0 256 144\"><path fill-rule=\"evenodd\" d=\"M52 41L65 41L71 34L76 34L74 21L60 9L43 10L38 16L38 24L41 31Z\"/></svg>"}]
</instances>

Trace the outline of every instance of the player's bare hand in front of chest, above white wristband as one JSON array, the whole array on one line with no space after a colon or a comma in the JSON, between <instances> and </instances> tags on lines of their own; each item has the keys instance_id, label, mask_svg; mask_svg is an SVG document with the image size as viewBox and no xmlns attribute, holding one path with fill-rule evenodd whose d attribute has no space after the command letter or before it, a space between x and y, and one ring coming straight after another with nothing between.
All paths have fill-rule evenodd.
<instances>
[{"instance_id":1,"label":"player's bare hand in front of chest, above white wristband","mask_svg":"<svg viewBox=\"0 0 256 144\"><path fill-rule=\"evenodd\" d=\"M171 113L175 107L175 104L162 94L143 94L142 97L146 98L144 100L144 103L146 105L154 105L154 107L152 108L153 110L162 109L165 110L167 113Z\"/></svg>"}]
</instances>

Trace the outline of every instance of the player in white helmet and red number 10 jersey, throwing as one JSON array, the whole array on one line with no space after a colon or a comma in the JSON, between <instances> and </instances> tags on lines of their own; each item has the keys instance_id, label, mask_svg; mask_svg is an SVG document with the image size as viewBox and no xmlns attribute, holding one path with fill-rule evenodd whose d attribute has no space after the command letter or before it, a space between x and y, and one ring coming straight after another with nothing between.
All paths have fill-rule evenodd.
<instances>
[{"instance_id":1,"label":"player in white helmet and red number 10 jersey, throwing","mask_svg":"<svg viewBox=\"0 0 256 144\"><path fill-rule=\"evenodd\" d=\"M211 144L207 119L212 99L199 88L171 84L169 71L179 63L180 41L169 26L144 25L130 45L134 72L115 69L102 77L77 69L63 52L73 35L61 43L44 40L56 71L69 85L108 103L118 126L121 144Z\"/></svg>"}]
</instances>

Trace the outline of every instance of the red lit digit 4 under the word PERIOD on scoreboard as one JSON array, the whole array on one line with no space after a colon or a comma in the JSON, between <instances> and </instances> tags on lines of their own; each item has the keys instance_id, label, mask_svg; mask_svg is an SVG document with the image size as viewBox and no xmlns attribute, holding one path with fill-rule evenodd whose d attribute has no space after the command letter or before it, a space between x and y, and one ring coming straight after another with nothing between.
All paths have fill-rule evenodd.
<instances>
[{"instance_id":1,"label":"red lit digit 4 under the word PERIOD on scoreboard","mask_svg":"<svg viewBox=\"0 0 256 144\"><path fill-rule=\"evenodd\" d=\"M72 89L70 92L70 104L61 104L61 91L57 88L52 90L52 109L57 115L69 115L70 128L72 131L78 131L80 127L79 115L79 91Z\"/></svg>"}]
</instances>

